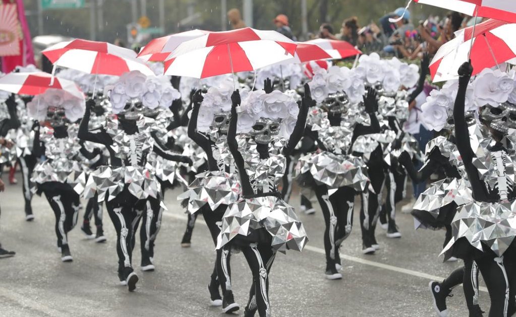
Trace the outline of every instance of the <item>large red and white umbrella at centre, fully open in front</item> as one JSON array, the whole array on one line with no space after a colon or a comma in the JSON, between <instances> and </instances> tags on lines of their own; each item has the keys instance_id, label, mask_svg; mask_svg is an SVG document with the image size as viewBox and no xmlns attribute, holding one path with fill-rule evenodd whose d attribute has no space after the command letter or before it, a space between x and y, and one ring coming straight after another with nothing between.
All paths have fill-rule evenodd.
<instances>
[{"instance_id":1,"label":"large red and white umbrella at centre, fully open in front","mask_svg":"<svg viewBox=\"0 0 516 317\"><path fill-rule=\"evenodd\" d=\"M165 75L207 78L254 71L294 58L296 46L276 31L211 32L176 47L165 61Z\"/></svg>"}]
</instances>

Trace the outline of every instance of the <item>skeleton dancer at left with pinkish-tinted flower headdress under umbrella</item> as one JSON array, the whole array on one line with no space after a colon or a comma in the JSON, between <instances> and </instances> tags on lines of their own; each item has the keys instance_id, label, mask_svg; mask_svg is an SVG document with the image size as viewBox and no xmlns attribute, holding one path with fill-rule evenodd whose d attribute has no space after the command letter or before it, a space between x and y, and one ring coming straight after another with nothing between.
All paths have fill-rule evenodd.
<instances>
[{"instance_id":1,"label":"skeleton dancer at left with pinkish-tinted flower headdress under umbrella","mask_svg":"<svg viewBox=\"0 0 516 317\"><path fill-rule=\"evenodd\" d=\"M57 247L63 262L73 260L67 234L77 222L80 208L79 194L85 182L86 166L77 153L85 152L70 122L77 121L84 112L84 99L70 98L62 90L49 89L27 104L29 116L49 126L40 127L36 121L33 129L36 157L45 160L34 168L33 181L38 195L45 194L56 216Z\"/></svg>"}]
</instances>

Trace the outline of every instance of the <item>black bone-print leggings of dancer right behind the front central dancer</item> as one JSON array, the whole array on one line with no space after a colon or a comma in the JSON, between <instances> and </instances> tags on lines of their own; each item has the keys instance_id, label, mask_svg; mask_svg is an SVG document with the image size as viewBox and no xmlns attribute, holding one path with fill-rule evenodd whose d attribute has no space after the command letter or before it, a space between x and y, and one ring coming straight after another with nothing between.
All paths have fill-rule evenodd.
<instances>
[{"instance_id":1,"label":"black bone-print leggings of dancer right behind the front central dancer","mask_svg":"<svg viewBox=\"0 0 516 317\"><path fill-rule=\"evenodd\" d=\"M327 269L335 268L335 262L340 263L338 249L351 233L353 226L354 189L340 187L333 195L328 195L328 187L319 185L315 188L315 194L326 228L324 232L324 246L326 251Z\"/></svg>"}]
</instances>

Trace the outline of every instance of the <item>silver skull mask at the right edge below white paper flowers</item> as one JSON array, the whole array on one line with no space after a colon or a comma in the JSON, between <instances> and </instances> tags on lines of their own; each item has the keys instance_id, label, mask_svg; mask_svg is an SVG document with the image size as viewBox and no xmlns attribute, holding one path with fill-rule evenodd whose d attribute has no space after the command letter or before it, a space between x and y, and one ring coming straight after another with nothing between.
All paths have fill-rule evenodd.
<instances>
[{"instance_id":1,"label":"silver skull mask at the right edge below white paper flowers","mask_svg":"<svg viewBox=\"0 0 516 317\"><path fill-rule=\"evenodd\" d=\"M480 108L482 123L494 131L506 134L509 129L516 129L516 105L504 102L497 108L486 104Z\"/></svg>"}]
</instances>

